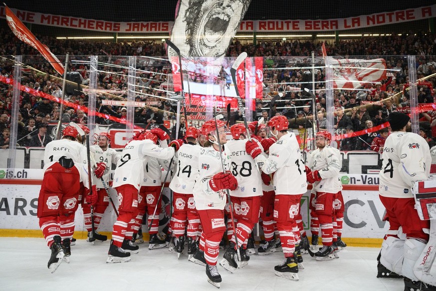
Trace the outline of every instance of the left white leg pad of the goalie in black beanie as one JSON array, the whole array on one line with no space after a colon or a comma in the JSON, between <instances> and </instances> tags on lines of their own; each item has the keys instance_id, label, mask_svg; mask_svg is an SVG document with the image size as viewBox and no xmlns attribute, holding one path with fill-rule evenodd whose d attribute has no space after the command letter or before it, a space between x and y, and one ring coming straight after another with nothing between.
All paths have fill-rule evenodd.
<instances>
[{"instance_id":1,"label":"left white leg pad of the goalie in black beanie","mask_svg":"<svg viewBox=\"0 0 436 291\"><path fill-rule=\"evenodd\" d=\"M382 243L380 262L388 269L400 273L403 267L405 240L388 236Z\"/></svg>"}]
</instances>

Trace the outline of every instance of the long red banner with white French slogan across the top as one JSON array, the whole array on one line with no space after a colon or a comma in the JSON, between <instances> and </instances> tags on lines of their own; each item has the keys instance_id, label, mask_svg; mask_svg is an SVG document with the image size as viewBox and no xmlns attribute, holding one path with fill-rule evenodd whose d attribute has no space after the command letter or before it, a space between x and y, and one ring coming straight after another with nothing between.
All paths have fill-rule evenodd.
<instances>
[{"instance_id":1,"label":"long red banner with white French slogan across the top","mask_svg":"<svg viewBox=\"0 0 436 291\"><path fill-rule=\"evenodd\" d=\"M241 5L242 6L242 5ZM61 16L47 13L30 12L12 9L17 17L26 23L58 26L66 28L104 31L104 32L128 32L128 33L169 33L173 21L150 21L150 22L113 22L106 20L86 19L72 16ZM182 13L183 14L183 13ZM237 15L240 17L243 13ZM436 4L380 12L370 15L360 15L347 18L317 19L317 20L244 20L238 25L238 32L283 32L283 31L333 31L345 29L357 29L378 25L402 23L420 19L433 18L436 16ZM4 6L0 7L0 18L5 18ZM242 18L242 17L241 17ZM183 38L185 39L185 38ZM174 42L174 41L173 41ZM174 42L175 43L175 42ZM228 42L227 42L228 43Z\"/></svg>"}]
</instances>

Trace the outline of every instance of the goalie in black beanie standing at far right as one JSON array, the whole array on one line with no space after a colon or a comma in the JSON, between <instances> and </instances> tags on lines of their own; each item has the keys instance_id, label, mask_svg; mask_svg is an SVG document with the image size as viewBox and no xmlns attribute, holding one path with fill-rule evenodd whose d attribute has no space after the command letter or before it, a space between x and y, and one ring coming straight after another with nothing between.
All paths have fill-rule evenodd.
<instances>
[{"instance_id":1,"label":"goalie in black beanie standing at far right","mask_svg":"<svg viewBox=\"0 0 436 291\"><path fill-rule=\"evenodd\" d=\"M380 262L405 277L405 290L435 290L435 286L419 281L414 273L415 263L429 240L430 221L420 219L411 193L415 181L429 178L430 148L423 137L406 132L410 127L408 115L392 112L388 121L393 132L386 138L382 154L379 194L390 227ZM400 226L406 239L399 237Z\"/></svg>"}]
</instances>

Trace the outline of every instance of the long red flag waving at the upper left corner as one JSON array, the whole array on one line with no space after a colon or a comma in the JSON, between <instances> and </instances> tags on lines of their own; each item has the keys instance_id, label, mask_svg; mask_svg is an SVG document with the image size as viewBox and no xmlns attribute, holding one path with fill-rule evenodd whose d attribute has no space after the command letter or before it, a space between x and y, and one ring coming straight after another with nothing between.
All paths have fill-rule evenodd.
<instances>
[{"instance_id":1,"label":"long red flag waving at the upper left corner","mask_svg":"<svg viewBox=\"0 0 436 291\"><path fill-rule=\"evenodd\" d=\"M54 69L58 73L63 75L63 66L57 59L57 57L53 53L51 53L50 49L48 49L46 45L42 44L33 35L33 33L30 32L29 29L27 29L27 27L21 22L21 20L19 20L18 17L13 14L9 7L5 5L4 8L6 12L7 25L9 25L10 29L12 29L13 34L15 34L16 37L18 37L18 39L20 39L21 41L37 49L45 57L45 59L50 62Z\"/></svg>"}]
</instances>

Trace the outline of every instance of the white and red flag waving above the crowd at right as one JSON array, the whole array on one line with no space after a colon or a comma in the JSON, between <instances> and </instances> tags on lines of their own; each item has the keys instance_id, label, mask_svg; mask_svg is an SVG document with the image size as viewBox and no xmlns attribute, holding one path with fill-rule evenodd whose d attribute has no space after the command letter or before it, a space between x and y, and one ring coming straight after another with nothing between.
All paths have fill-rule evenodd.
<instances>
[{"instance_id":1,"label":"white and red flag waving above the crowd at right","mask_svg":"<svg viewBox=\"0 0 436 291\"><path fill-rule=\"evenodd\" d=\"M322 45L324 59L327 56L326 47ZM380 82L387 78L386 61L383 58L375 59L336 59L330 57L333 71L333 87L354 89L367 83Z\"/></svg>"}]
</instances>

